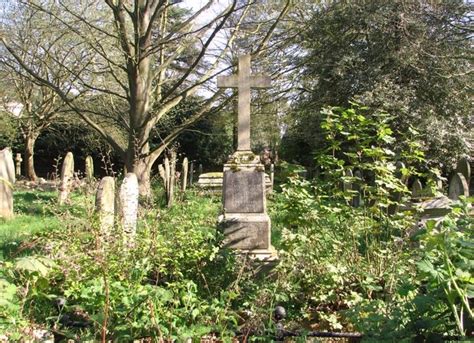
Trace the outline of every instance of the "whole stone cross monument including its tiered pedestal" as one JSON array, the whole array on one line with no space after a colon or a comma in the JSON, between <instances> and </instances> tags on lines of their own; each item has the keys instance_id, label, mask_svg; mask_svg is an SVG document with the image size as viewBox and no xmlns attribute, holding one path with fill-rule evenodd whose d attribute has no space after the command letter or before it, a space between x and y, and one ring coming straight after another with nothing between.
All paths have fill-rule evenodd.
<instances>
[{"instance_id":1,"label":"whole stone cross monument including its tiered pedestal","mask_svg":"<svg viewBox=\"0 0 474 343\"><path fill-rule=\"evenodd\" d=\"M239 57L237 75L217 79L220 88L238 88L237 151L224 165L223 205L225 243L258 260L275 258L266 212L265 173L250 144L250 88L270 86L265 76L250 74L250 55Z\"/></svg>"}]
</instances>

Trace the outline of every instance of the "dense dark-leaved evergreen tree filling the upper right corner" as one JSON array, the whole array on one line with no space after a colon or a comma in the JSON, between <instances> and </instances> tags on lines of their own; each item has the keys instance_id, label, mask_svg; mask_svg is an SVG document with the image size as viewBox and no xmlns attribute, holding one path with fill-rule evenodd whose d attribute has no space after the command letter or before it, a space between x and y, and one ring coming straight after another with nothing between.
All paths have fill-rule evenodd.
<instances>
[{"instance_id":1,"label":"dense dark-leaved evergreen tree filling the upper right corner","mask_svg":"<svg viewBox=\"0 0 474 343\"><path fill-rule=\"evenodd\" d=\"M321 107L351 101L391 113L398 132L419 130L436 162L449 165L466 150L473 130L472 3L369 0L306 7L293 63L299 92L286 136L297 149L288 151L306 147L309 155L325 144L318 134Z\"/></svg>"}]
</instances>

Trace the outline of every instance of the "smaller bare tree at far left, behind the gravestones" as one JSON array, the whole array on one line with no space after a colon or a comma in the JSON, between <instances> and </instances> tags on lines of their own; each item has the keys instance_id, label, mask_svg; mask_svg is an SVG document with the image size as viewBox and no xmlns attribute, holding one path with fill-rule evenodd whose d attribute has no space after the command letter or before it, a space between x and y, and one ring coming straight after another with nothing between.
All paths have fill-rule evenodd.
<instances>
[{"instance_id":1,"label":"smaller bare tree at far left, behind the gravestones","mask_svg":"<svg viewBox=\"0 0 474 343\"><path fill-rule=\"evenodd\" d=\"M6 32L8 39L21 47L18 56L22 63L35 73L49 79L52 84L64 82L64 69L54 75L38 61L53 61L64 58L66 46L53 46L54 37L45 29L48 18L39 16L21 4L11 4L10 12L3 16L3 23L15 30ZM28 51L28 53L26 53ZM47 53L46 53L47 52ZM36 180L34 166L35 142L61 112L64 102L50 87L39 83L27 73L18 61L6 51L0 55L0 72L4 85L8 87L2 97L3 107L17 122L24 141L24 162L26 177Z\"/></svg>"}]
</instances>

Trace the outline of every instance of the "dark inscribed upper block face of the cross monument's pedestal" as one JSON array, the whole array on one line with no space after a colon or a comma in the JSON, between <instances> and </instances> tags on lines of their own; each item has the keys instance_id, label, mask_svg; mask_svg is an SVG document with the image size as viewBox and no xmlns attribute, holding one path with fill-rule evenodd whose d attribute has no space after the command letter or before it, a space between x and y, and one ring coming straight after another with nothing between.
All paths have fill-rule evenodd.
<instances>
[{"instance_id":1,"label":"dark inscribed upper block face of the cross monument's pedestal","mask_svg":"<svg viewBox=\"0 0 474 343\"><path fill-rule=\"evenodd\" d=\"M264 213L264 173L258 171L224 172L226 213Z\"/></svg>"}]
</instances>

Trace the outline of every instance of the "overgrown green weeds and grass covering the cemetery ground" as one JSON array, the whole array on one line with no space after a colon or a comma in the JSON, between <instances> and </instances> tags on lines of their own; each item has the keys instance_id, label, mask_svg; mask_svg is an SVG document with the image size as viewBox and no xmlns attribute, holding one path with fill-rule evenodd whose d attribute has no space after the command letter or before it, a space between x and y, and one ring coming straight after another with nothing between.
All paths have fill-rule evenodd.
<instances>
[{"instance_id":1,"label":"overgrown green weeds and grass covering the cemetery ground","mask_svg":"<svg viewBox=\"0 0 474 343\"><path fill-rule=\"evenodd\" d=\"M269 341L277 305L302 339L355 331L372 342L435 342L472 330L466 202L413 233L416 213L383 216L323 188L295 174L268 196L279 262L263 271L223 247L218 194L192 188L166 208L157 185L127 247L118 226L104 241L86 189L61 206L57 192L16 189L15 218L0 223L2 337Z\"/></svg>"}]
</instances>

